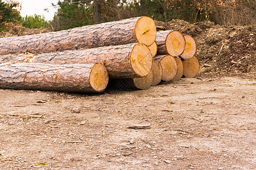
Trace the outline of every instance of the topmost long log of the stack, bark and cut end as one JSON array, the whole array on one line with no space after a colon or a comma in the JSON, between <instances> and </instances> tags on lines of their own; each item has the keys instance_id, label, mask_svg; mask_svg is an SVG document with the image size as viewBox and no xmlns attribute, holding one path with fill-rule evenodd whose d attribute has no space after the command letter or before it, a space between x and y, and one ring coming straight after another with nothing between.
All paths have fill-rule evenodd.
<instances>
[{"instance_id":1,"label":"topmost long log of the stack, bark and cut end","mask_svg":"<svg viewBox=\"0 0 256 170\"><path fill-rule=\"evenodd\" d=\"M0 55L13 53L47 53L79 48L96 48L155 41L156 26L147 16L87 25L59 32L40 33L0 39Z\"/></svg>"}]
</instances>

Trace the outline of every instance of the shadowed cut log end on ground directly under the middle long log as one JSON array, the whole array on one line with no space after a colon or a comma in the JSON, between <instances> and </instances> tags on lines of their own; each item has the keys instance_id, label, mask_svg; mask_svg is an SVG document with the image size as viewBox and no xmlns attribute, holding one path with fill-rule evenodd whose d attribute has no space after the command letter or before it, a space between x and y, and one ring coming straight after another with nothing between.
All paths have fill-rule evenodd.
<instances>
[{"instance_id":1,"label":"shadowed cut log end on ground directly under the middle long log","mask_svg":"<svg viewBox=\"0 0 256 170\"><path fill-rule=\"evenodd\" d=\"M153 80L153 73L151 70L147 76L144 76L142 78L133 78L133 83L136 88L143 90L151 86L152 80Z\"/></svg>"}]
</instances>

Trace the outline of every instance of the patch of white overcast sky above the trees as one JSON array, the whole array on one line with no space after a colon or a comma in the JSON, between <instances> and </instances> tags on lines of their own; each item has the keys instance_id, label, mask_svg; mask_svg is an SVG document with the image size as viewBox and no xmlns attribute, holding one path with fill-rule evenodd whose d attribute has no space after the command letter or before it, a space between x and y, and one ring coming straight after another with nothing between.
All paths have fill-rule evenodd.
<instances>
[{"instance_id":1,"label":"patch of white overcast sky above the trees","mask_svg":"<svg viewBox=\"0 0 256 170\"><path fill-rule=\"evenodd\" d=\"M52 7L52 3L56 4L59 0L18 0L22 4L21 16L26 15L43 15L47 20L53 19L56 8ZM44 11L48 8L48 12Z\"/></svg>"}]
</instances>

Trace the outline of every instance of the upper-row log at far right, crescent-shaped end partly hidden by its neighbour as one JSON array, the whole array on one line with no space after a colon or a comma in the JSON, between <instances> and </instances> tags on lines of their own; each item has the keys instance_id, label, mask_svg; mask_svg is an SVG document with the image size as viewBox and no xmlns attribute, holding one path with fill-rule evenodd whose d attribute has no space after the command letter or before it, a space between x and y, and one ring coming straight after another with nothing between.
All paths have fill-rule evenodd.
<instances>
[{"instance_id":1,"label":"upper-row log at far right, crescent-shaped end partly hidden by its neighbour","mask_svg":"<svg viewBox=\"0 0 256 170\"><path fill-rule=\"evenodd\" d=\"M180 55L180 58L188 60L195 56L196 54L196 41L193 37L189 35L184 35L185 38L185 49L184 52Z\"/></svg>"}]
</instances>

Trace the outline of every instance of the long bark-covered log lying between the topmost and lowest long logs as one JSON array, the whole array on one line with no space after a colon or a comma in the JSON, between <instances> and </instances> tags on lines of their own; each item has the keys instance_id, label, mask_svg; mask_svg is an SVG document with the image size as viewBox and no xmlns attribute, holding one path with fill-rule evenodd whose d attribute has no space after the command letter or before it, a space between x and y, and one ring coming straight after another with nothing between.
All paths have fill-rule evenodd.
<instances>
[{"instance_id":1,"label":"long bark-covered log lying between the topmost and lowest long logs","mask_svg":"<svg viewBox=\"0 0 256 170\"><path fill-rule=\"evenodd\" d=\"M150 72L152 55L144 44L125 44L63 52L0 56L0 63L13 61L54 64L105 63L111 78L135 78L146 76Z\"/></svg>"}]
</instances>

